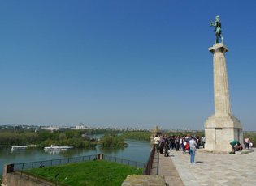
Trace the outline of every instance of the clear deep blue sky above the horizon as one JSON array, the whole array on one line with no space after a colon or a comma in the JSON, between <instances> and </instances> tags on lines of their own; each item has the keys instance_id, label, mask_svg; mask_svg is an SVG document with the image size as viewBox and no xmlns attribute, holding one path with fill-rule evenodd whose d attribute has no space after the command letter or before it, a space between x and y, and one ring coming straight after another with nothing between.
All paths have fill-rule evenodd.
<instances>
[{"instance_id":1,"label":"clear deep blue sky above the horizon","mask_svg":"<svg viewBox=\"0 0 256 186\"><path fill-rule=\"evenodd\" d=\"M215 15L232 113L256 130L249 0L0 0L0 124L204 129Z\"/></svg>"}]
</instances>

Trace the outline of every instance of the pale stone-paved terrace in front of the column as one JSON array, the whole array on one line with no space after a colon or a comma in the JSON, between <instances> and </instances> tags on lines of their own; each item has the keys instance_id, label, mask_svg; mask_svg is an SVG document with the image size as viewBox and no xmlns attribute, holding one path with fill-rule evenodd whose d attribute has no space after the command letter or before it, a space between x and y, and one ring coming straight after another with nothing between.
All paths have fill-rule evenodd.
<instances>
[{"instance_id":1,"label":"pale stone-paved terrace in front of the column","mask_svg":"<svg viewBox=\"0 0 256 186\"><path fill-rule=\"evenodd\" d=\"M195 164L189 154L171 150L171 159L184 185L256 185L256 152L211 154L197 150Z\"/></svg>"}]
</instances>

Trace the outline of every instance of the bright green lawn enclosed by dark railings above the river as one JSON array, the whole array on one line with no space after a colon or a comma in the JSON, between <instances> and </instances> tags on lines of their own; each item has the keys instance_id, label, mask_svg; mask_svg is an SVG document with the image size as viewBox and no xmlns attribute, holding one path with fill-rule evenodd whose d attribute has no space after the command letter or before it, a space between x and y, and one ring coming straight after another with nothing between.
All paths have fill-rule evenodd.
<instances>
[{"instance_id":1,"label":"bright green lawn enclosed by dark railings above the river","mask_svg":"<svg viewBox=\"0 0 256 186\"><path fill-rule=\"evenodd\" d=\"M29 169L26 171L33 175L41 175L49 180L71 186L115 186L121 185L127 175L142 175L143 169L100 160ZM57 174L59 175L55 179Z\"/></svg>"}]
</instances>

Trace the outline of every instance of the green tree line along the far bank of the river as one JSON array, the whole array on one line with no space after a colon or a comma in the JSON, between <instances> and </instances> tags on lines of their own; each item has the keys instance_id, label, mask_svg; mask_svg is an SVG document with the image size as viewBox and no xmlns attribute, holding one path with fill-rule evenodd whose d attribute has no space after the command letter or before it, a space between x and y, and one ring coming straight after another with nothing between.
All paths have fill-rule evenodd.
<instances>
[{"instance_id":1,"label":"green tree line along the far bank of the river","mask_svg":"<svg viewBox=\"0 0 256 186\"><path fill-rule=\"evenodd\" d=\"M189 132L164 132L167 136L185 136ZM89 136L93 134L104 134L100 141ZM204 136L203 131L189 133L194 136ZM48 131L40 129L37 132L29 129L0 129L0 146L37 146L43 148L50 145L73 146L75 148L95 147L124 147L125 139L139 141L150 141L150 131L118 131L111 129L65 129L63 131ZM246 132L244 136L249 137L251 142L256 142L256 133ZM243 142L241 142L243 143Z\"/></svg>"}]
</instances>

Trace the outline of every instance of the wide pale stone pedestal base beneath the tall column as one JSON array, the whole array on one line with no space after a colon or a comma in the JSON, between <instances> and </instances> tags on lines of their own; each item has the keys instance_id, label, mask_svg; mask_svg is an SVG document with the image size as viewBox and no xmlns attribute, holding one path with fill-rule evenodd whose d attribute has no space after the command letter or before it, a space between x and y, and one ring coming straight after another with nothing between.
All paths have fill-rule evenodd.
<instances>
[{"instance_id":1,"label":"wide pale stone pedestal base beneath the tall column","mask_svg":"<svg viewBox=\"0 0 256 186\"><path fill-rule=\"evenodd\" d=\"M243 129L240 120L235 116L210 116L205 123L205 149L215 152L230 152L232 140L243 144Z\"/></svg>"}]
</instances>

